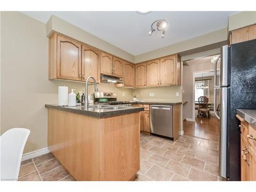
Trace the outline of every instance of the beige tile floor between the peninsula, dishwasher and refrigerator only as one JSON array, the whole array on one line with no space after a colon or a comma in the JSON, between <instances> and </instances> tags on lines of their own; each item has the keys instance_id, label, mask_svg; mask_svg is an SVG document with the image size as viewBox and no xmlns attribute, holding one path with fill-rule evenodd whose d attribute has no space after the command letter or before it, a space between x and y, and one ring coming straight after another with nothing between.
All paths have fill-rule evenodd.
<instances>
[{"instance_id":1,"label":"beige tile floor between the peninsula, dishwasher and refrigerator only","mask_svg":"<svg viewBox=\"0 0 256 192\"><path fill-rule=\"evenodd\" d=\"M217 141L189 135L177 141L141 134L136 181L223 181Z\"/></svg>"}]
</instances>

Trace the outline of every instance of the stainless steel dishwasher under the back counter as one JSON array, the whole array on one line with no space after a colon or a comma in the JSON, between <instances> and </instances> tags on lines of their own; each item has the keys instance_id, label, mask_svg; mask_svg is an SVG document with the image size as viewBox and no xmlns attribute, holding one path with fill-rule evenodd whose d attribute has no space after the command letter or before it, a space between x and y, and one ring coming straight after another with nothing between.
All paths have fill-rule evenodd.
<instances>
[{"instance_id":1,"label":"stainless steel dishwasher under the back counter","mask_svg":"<svg viewBox=\"0 0 256 192\"><path fill-rule=\"evenodd\" d=\"M173 138L173 105L151 105L151 133Z\"/></svg>"}]
</instances>

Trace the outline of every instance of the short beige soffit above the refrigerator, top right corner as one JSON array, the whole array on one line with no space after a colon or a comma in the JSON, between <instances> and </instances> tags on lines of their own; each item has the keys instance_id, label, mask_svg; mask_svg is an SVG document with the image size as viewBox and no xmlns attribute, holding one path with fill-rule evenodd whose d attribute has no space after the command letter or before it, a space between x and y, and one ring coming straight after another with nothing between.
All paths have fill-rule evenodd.
<instances>
[{"instance_id":1,"label":"short beige soffit above the refrigerator, top right corner","mask_svg":"<svg viewBox=\"0 0 256 192\"><path fill-rule=\"evenodd\" d=\"M228 31L256 24L256 11L242 11L229 16Z\"/></svg>"}]
</instances>

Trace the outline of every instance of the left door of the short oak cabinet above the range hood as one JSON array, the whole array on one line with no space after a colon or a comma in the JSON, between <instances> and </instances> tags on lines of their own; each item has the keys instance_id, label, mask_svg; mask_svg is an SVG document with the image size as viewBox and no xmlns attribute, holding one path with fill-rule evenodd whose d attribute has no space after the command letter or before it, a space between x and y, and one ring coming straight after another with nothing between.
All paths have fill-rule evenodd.
<instances>
[{"instance_id":1,"label":"left door of the short oak cabinet above the range hood","mask_svg":"<svg viewBox=\"0 0 256 192\"><path fill-rule=\"evenodd\" d=\"M100 73L113 75L113 56L101 52Z\"/></svg>"}]
</instances>

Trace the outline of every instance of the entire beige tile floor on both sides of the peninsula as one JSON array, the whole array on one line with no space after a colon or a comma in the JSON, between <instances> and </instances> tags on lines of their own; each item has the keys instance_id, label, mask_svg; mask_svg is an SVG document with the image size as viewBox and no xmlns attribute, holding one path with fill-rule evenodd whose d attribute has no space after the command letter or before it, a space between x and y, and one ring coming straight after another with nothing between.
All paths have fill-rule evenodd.
<instances>
[{"instance_id":1,"label":"entire beige tile floor on both sides of the peninsula","mask_svg":"<svg viewBox=\"0 0 256 192\"><path fill-rule=\"evenodd\" d=\"M136 181L220 181L218 143L191 136L177 141L141 134ZM51 154L22 161L19 181L74 181Z\"/></svg>"}]
</instances>

